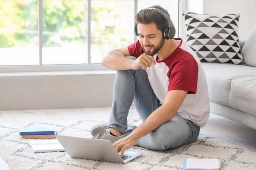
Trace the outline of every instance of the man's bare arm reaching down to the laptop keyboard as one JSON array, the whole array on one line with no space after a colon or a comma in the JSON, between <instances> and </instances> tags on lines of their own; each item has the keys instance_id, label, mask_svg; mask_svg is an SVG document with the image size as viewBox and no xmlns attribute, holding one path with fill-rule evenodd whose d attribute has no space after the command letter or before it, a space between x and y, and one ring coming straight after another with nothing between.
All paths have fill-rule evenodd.
<instances>
[{"instance_id":1,"label":"man's bare arm reaching down to the laptop keyboard","mask_svg":"<svg viewBox=\"0 0 256 170\"><path fill-rule=\"evenodd\" d=\"M188 91L183 90L169 91L161 107L151 113L148 118L128 136L113 143L117 152L121 151L121 156L123 156L124 151L132 147L139 138L171 120L176 115L187 93Z\"/></svg>"}]
</instances>

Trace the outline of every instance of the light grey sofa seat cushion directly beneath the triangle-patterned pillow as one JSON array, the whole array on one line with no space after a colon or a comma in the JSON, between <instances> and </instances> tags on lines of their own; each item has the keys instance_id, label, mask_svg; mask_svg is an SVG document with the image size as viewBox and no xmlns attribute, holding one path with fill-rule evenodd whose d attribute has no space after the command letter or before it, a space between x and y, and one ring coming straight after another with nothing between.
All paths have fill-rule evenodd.
<instances>
[{"instance_id":1,"label":"light grey sofa seat cushion directly beneath the triangle-patterned pillow","mask_svg":"<svg viewBox=\"0 0 256 170\"><path fill-rule=\"evenodd\" d=\"M246 65L202 63L209 91L209 99L222 105L229 105L231 82L241 77L256 77L256 67Z\"/></svg>"}]
</instances>

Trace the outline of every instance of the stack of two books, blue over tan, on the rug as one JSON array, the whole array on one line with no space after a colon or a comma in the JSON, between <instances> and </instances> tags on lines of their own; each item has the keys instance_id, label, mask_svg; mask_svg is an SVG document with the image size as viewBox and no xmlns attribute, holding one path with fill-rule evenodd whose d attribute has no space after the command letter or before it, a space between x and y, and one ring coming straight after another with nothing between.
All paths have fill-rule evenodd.
<instances>
[{"instance_id":1,"label":"stack of two books, blue over tan, on the rug","mask_svg":"<svg viewBox=\"0 0 256 170\"><path fill-rule=\"evenodd\" d=\"M53 127L22 127L19 132L22 138L55 138L57 134Z\"/></svg>"}]
</instances>

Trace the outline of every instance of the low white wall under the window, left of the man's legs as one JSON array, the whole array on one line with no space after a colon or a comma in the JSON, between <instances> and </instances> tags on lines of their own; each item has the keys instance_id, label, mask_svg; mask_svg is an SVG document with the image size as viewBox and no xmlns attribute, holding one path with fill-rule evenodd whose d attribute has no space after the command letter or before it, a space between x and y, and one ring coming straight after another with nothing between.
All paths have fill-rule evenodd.
<instances>
[{"instance_id":1,"label":"low white wall under the window, left of the man's legs","mask_svg":"<svg viewBox=\"0 0 256 170\"><path fill-rule=\"evenodd\" d=\"M115 71L1 73L0 111L111 107L115 76Z\"/></svg>"}]
</instances>

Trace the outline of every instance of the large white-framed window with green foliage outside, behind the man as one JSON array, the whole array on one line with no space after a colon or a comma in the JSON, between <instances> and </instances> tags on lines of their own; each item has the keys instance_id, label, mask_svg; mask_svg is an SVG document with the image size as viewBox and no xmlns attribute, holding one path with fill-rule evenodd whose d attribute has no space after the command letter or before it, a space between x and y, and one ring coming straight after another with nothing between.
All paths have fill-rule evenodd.
<instances>
[{"instance_id":1,"label":"large white-framed window with green foliage outside, behind the man","mask_svg":"<svg viewBox=\"0 0 256 170\"><path fill-rule=\"evenodd\" d=\"M177 28L178 0L1 0L0 69L100 65L137 40L134 14L152 5Z\"/></svg>"}]
</instances>

